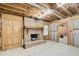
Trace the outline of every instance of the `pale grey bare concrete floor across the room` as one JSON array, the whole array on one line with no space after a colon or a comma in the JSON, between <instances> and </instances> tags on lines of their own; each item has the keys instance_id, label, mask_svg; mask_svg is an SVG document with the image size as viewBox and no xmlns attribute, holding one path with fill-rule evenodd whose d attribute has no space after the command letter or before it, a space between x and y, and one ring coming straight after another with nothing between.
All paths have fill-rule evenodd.
<instances>
[{"instance_id":1,"label":"pale grey bare concrete floor across the room","mask_svg":"<svg viewBox=\"0 0 79 59\"><path fill-rule=\"evenodd\" d=\"M28 49L15 48L0 52L1 56L79 56L79 48L47 41Z\"/></svg>"}]
</instances>

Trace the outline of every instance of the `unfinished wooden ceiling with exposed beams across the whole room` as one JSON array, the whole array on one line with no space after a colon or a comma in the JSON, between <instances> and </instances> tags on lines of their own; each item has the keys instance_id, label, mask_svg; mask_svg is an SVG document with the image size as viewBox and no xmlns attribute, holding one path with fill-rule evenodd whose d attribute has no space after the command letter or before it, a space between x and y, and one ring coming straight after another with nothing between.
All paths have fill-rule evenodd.
<instances>
[{"instance_id":1,"label":"unfinished wooden ceiling with exposed beams across the whole room","mask_svg":"<svg viewBox=\"0 0 79 59\"><path fill-rule=\"evenodd\" d=\"M79 14L78 3L0 3L0 12L36 17L44 21L60 20Z\"/></svg>"}]
</instances>

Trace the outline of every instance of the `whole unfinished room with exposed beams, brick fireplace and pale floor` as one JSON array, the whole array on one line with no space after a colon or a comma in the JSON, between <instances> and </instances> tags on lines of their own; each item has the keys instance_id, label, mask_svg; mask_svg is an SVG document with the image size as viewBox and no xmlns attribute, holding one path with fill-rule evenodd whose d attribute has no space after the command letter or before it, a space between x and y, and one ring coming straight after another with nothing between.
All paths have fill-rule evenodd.
<instances>
[{"instance_id":1,"label":"whole unfinished room with exposed beams, brick fireplace and pale floor","mask_svg":"<svg viewBox=\"0 0 79 59\"><path fill-rule=\"evenodd\" d=\"M79 56L79 3L0 3L0 56Z\"/></svg>"}]
</instances>

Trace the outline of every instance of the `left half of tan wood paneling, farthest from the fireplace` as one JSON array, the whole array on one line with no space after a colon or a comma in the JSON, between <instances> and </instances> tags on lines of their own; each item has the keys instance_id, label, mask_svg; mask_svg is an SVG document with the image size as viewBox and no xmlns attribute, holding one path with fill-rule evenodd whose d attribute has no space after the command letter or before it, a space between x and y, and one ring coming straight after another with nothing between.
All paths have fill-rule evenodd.
<instances>
[{"instance_id":1,"label":"left half of tan wood paneling, farthest from the fireplace","mask_svg":"<svg viewBox=\"0 0 79 59\"><path fill-rule=\"evenodd\" d=\"M3 47L12 47L12 16L8 14L2 15L2 43Z\"/></svg>"}]
</instances>

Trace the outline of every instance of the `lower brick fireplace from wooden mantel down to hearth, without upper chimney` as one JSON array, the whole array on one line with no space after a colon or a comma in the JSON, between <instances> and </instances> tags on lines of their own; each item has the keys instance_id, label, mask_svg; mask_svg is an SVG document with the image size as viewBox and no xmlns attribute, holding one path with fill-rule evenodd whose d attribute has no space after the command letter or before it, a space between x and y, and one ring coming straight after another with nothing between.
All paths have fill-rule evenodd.
<instances>
[{"instance_id":1,"label":"lower brick fireplace from wooden mantel down to hearth, without upper chimney","mask_svg":"<svg viewBox=\"0 0 79 59\"><path fill-rule=\"evenodd\" d=\"M45 42L43 38L43 29L26 28L24 39L26 48Z\"/></svg>"}]
</instances>

